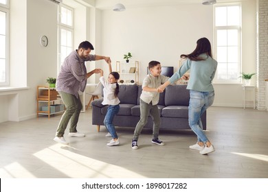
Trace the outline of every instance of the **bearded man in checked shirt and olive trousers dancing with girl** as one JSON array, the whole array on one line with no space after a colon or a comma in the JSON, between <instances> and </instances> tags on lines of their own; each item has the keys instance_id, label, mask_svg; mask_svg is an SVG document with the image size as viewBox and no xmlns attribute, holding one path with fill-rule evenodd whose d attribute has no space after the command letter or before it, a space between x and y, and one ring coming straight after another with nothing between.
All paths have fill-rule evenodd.
<instances>
[{"instance_id":1,"label":"bearded man in checked shirt and olive trousers dancing with girl","mask_svg":"<svg viewBox=\"0 0 268 192\"><path fill-rule=\"evenodd\" d=\"M94 73L100 73L100 69L94 69L87 73L85 61L91 60L105 60L107 63L111 59L106 56L97 56L89 54L94 50L93 45L88 41L80 43L76 51L72 51L67 58L65 58L63 65L60 68L60 73L56 80L56 91L63 99L66 110L63 117L60 119L58 128L56 130L56 137L54 141L68 145L63 135L70 121L69 136L83 137L85 134L76 130L80 111L82 110L82 103L78 92L85 91L87 85L87 78Z\"/></svg>"}]
</instances>

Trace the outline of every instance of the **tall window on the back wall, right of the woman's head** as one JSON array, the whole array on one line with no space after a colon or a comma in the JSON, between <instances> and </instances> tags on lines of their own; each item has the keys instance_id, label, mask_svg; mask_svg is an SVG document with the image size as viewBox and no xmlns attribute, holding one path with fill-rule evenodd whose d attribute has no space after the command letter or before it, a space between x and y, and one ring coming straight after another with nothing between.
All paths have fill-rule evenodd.
<instances>
[{"instance_id":1,"label":"tall window on the back wall, right of the woman's head","mask_svg":"<svg viewBox=\"0 0 268 192\"><path fill-rule=\"evenodd\" d=\"M241 75L241 5L214 8L215 50L218 68L214 82L238 83Z\"/></svg>"}]
</instances>

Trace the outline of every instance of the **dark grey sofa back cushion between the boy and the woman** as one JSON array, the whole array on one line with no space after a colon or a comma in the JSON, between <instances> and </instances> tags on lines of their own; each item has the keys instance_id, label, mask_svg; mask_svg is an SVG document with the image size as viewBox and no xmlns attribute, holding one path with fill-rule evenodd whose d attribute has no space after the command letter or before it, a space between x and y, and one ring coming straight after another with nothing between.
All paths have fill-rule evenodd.
<instances>
[{"instance_id":1,"label":"dark grey sofa back cushion between the boy and the woman","mask_svg":"<svg viewBox=\"0 0 268 192\"><path fill-rule=\"evenodd\" d=\"M170 85L166 87L165 106L189 106L190 93L187 85Z\"/></svg>"}]
</instances>

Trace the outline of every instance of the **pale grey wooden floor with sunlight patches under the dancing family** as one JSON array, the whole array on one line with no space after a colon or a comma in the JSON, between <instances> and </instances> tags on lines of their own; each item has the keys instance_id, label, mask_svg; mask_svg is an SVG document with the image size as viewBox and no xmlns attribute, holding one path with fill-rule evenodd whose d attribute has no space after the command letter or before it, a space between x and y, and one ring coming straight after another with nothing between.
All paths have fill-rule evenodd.
<instances>
[{"instance_id":1,"label":"pale grey wooden floor with sunlight patches under the dancing family","mask_svg":"<svg viewBox=\"0 0 268 192\"><path fill-rule=\"evenodd\" d=\"M108 147L102 126L81 113L69 146L53 141L61 115L0 123L0 178L268 178L268 112L252 108L208 109L206 134L216 152L201 155L188 146L191 131L161 131L166 145L150 142L151 131L131 149L134 128L118 128L120 146Z\"/></svg>"}]
</instances>

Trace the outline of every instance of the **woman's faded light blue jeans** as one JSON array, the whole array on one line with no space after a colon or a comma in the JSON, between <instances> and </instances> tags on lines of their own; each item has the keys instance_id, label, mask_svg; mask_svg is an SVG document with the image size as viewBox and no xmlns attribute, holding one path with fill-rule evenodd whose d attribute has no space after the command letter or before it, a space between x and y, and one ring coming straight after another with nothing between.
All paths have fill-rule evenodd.
<instances>
[{"instance_id":1,"label":"woman's faded light blue jeans","mask_svg":"<svg viewBox=\"0 0 268 192\"><path fill-rule=\"evenodd\" d=\"M201 116L203 112L212 106L214 101L214 91L201 92L190 90L190 102L189 102L189 125L192 131L197 134L197 141L206 143L208 141L207 136L203 132L203 126L201 122Z\"/></svg>"}]
</instances>

